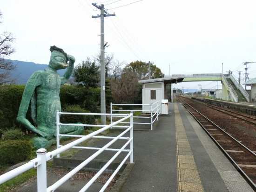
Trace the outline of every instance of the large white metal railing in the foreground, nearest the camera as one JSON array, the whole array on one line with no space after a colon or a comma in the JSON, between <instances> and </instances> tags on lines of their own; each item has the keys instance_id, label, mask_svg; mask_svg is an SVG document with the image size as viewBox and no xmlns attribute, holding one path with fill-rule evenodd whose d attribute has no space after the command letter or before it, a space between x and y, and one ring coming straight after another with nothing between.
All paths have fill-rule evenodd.
<instances>
[{"instance_id":1,"label":"large white metal railing in the foreground, nearest the camera","mask_svg":"<svg viewBox=\"0 0 256 192\"><path fill-rule=\"evenodd\" d=\"M60 133L59 133L59 126L60 125L64 125L62 123L59 122L59 119L60 119L60 115L61 114L67 114L67 115L70 115L70 114L73 114L73 115L94 115L95 113L89 113L89 114L86 114L86 113L67 113L67 112L59 112L57 111L57 115L56 115L56 120L57 120L57 138L59 138L60 136ZM97 114L97 115L102 115L102 114ZM125 115L125 114L104 114L104 115L116 115L116 116L121 116L121 115ZM79 135L66 135L66 134L61 134L61 136L65 135L65 136L74 136L74 137L81 137L75 141L72 141L70 143L68 143L67 145L65 146L61 146L61 147L58 147L57 149L55 149L54 151L51 151L51 152L48 152L46 153L46 150L45 150L45 153L44 154L40 154L39 156L37 156L37 158L34 158L33 160L30 160L29 162L27 162L26 164L22 165L22 166L19 166L15 169L13 169L12 171L10 172L7 172L7 173L4 173L2 175L0 175L0 184L6 182L7 180L9 179L12 179L13 177L21 174L21 173L24 173L25 171L33 168L33 167L38 167L37 169L37 175L38 175L38 178L44 178L45 179L38 179L38 182L37 182L37 189L38 189L38 192L48 192L48 191L51 191L51 190L55 190L57 189L61 184L63 184L64 182L67 181L67 179L69 179L70 177L72 177L75 173L77 173L82 167L84 167L86 164L88 164L88 162L90 162L91 160L93 160L98 154L100 154L102 151L106 150L110 145L112 145L115 141L117 141L118 139L124 139L122 138L121 136L124 135L125 133L127 133L128 131L130 131L130 138L129 140L127 141L127 143L125 144L125 147L130 143L130 150L123 150L125 147L121 147L121 149L118 150L118 152L116 153L117 155L120 154L122 151L127 151L128 152L128 155L125 157L125 160L127 160L127 158L130 156L130 161L131 163L133 162L133 112L130 112L130 114L126 114L126 116L122 116L123 118L116 121L116 122L112 122L110 125L106 125L105 127L103 128L100 128L99 130L97 131L94 131L93 133L90 133L88 135L84 135L84 136L79 136ZM91 157L89 157L87 160L85 160L83 163L81 163L79 166L75 167L71 172L67 173L67 175L65 175L63 178L61 178L60 180L58 180L57 182L55 182L52 186L49 186L48 188L47 185L46 185L46 162L50 159L52 159L54 156L56 155L59 155L61 154L62 152L66 151L67 149L70 149L72 147L75 147L76 145L80 144L81 142L84 142L86 140L88 140L89 138L91 137L97 137L96 135L113 127L113 126L116 126L118 123L120 122L123 122L125 121L126 119L130 118L130 125L129 126L122 126L122 127L126 127L127 129L125 131L123 131L121 134L119 134L118 136L116 136L114 139L113 138L108 138L108 139L113 139L112 141L108 142L107 145L105 145L104 147L102 147L101 149L99 149L95 154L93 154ZM72 126L73 124L65 124L65 125L70 125ZM78 126L78 124L75 124L76 126ZM82 126L81 124L79 124L79 126ZM101 127L101 125L99 125ZM103 136L101 136L103 138ZM58 140L58 139L57 139ZM57 141L58 142L58 141ZM60 145L58 145L60 146ZM39 149L40 150L40 149ZM38 151L39 151L38 150ZM39 154L39 153L38 153ZM114 155L109 161L113 161L115 159L115 157L117 155ZM41 157L40 157L41 156ZM111 161L111 162L112 162ZM124 164L124 160L121 162L121 165ZM108 162L108 164L110 164ZM106 166L104 166L106 167ZM107 168L107 167L106 167ZM119 170L121 168L121 166L118 166L117 169ZM116 170L117 170L116 169ZM105 169L104 169L105 170ZM103 171L103 168L100 170L100 172L102 173ZM117 171L118 171L117 170ZM74 173L75 172L75 173ZM74 173L74 174L73 174ZM117 172L114 172L115 174ZM113 174L114 174L113 173ZM112 174L112 176L113 176ZM42 176L43 175L43 176ZM70 176L71 175L71 176ZM111 179L112 176L109 178ZM115 175L114 175L115 176ZM109 179L108 179L108 184L109 184ZM113 179L113 178L112 178ZM40 180L40 181L39 181ZM91 182L92 184L93 182ZM88 184L86 185L87 187ZM108 186L108 185L107 185ZM102 187L103 191L106 189L107 187L106 185L104 185ZM101 190L102 191L102 190Z\"/></svg>"}]
</instances>

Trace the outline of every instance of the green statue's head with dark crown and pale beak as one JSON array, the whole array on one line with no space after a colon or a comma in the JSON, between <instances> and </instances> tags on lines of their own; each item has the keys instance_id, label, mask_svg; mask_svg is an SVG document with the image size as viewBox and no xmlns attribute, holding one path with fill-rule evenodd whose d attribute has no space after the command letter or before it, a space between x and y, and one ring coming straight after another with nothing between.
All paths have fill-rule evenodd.
<instances>
[{"instance_id":1,"label":"green statue's head with dark crown and pale beak","mask_svg":"<svg viewBox=\"0 0 256 192\"><path fill-rule=\"evenodd\" d=\"M49 66L55 70L66 69L68 67L67 61L69 61L67 53L55 45L51 46L50 51L52 54Z\"/></svg>"}]
</instances>

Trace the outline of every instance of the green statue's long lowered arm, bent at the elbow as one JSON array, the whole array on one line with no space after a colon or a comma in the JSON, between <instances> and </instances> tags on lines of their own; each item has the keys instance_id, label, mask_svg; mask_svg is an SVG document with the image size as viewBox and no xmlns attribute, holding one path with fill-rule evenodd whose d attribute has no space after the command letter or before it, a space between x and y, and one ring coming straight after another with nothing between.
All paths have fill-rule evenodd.
<instances>
[{"instance_id":1,"label":"green statue's long lowered arm, bent at the elbow","mask_svg":"<svg viewBox=\"0 0 256 192\"><path fill-rule=\"evenodd\" d=\"M33 96L33 93L37 86L41 84L41 78L40 78L41 71L36 71L27 81L26 87L24 89L22 99L20 102L20 109L17 116L17 122L19 122L21 125L26 127L29 131L32 131L36 134L41 135L42 137L47 137L46 134L42 133L40 130L34 127L34 125L31 124L26 119L27 109L31 100L31 97Z\"/></svg>"}]
</instances>

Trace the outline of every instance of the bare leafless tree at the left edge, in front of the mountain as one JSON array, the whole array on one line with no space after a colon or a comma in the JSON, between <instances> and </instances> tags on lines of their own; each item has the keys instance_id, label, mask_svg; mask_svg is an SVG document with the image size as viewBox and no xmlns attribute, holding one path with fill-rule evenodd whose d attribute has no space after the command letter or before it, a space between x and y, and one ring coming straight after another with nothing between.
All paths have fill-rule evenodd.
<instances>
[{"instance_id":1,"label":"bare leafless tree at the left edge, in front of the mountain","mask_svg":"<svg viewBox=\"0 0 256 192\"><path fill-rule=\"evenodd\" d=\"M0 12L1 17L2 13ZM2 22L0 21L0 23ZM15 79L10 78L10 71L14 70L16 66L6 60L15 52L15 49L12 47L14 40L15 38L13 38L13 34L10 32L0 34L0 88L7 84L15 83Z\"/></svg>"}]
</instances>

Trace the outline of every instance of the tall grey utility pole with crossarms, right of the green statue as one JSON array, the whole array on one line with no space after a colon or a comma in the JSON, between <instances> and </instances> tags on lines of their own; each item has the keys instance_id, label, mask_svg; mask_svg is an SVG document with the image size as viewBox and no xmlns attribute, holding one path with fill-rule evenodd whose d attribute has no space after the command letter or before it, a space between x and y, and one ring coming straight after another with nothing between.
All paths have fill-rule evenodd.
<instances>
[{"instance_id":1,"label":"tall grey utility pole with crossarms, right of the green statue","mask_svg":"<svg viewBox=\"0 0 256 192\"><path fill-rule=\"evenodd\" d=\"M97 3L92 3L93 6L101 10L101 15L92 16L92 18L101 18L101 113L106 113L106 96L105 96L105 47L104 42L104 18L115 16L108 14L104 9L104 5L98 6ZM106 13L106 14L105 14ZM101 115L101 125L106 125L106 115Z\"/></svg>"}]
</instances>

